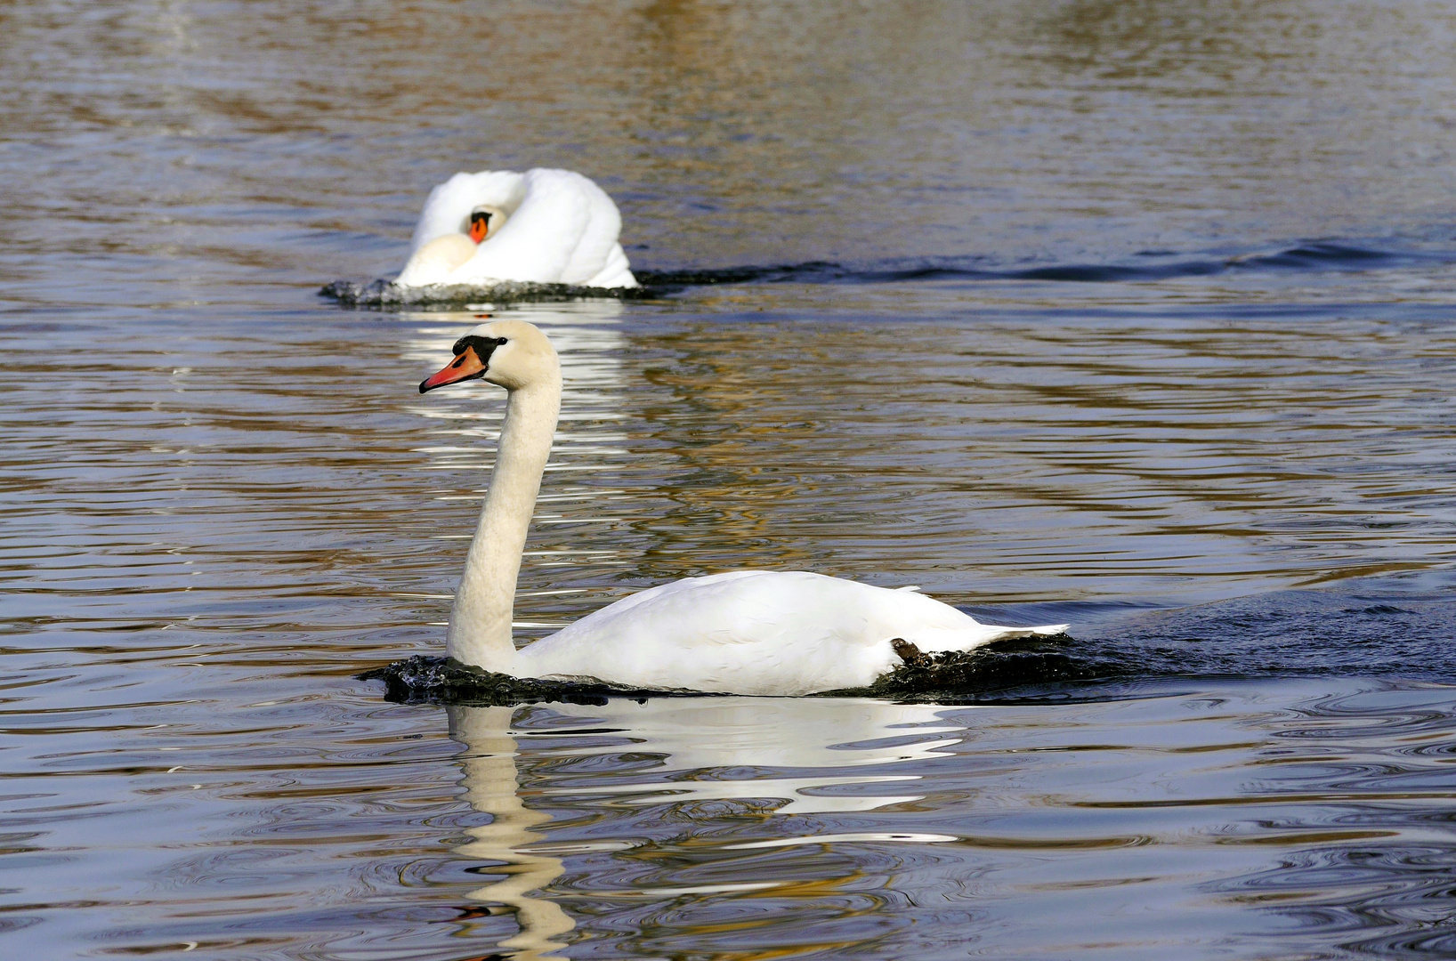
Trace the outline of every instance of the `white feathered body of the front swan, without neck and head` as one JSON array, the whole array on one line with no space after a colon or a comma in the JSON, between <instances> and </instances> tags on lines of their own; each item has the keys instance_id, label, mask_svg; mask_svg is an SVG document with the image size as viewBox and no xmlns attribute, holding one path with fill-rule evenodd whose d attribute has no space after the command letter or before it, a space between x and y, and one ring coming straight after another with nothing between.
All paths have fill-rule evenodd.
<instances>
[{"instance_id":1,"label":"white feathered body of the front swan, without neck and head","mask_svg":"<svg viewBox=\"0 0 1456 961\"><path fill-rule=\"evenodd\" d=\"M807 695L862 687L922 651L970 649L1059 628L997 628L913 591L808 572L735 571L654 587L517 654L523 677L645 689Z\"/></svg>"}]
</instances>

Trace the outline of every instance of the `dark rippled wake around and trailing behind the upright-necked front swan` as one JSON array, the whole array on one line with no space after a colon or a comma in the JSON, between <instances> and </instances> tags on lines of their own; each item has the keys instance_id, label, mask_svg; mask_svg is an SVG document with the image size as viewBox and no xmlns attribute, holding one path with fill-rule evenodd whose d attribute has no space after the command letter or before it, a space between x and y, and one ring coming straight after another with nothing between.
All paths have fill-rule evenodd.
<instances>
[{"instance_id":1,"label":"dark rippled wake around and trailing behind the upright-necked front swan","mask_svg":"<svg viewBox=\"0 0 1456 961\"><path fill-rule=\"evenodd\" d=\"M1066 606L976 609L992 619L1066 614ZM868 687L820 697L987 703L1096 700L1128 686L1178 680L1401 677L1456 683L1456 574L1367 578L1181 609L1133 609L1075 636L1002 641L970 652L909 658ZM604 703L609 697L713 696L598 681L494 674L416 655L360 676L402 703ZM1114 692L1123 692L1114 693Z\"/></svg>"}]
</instances>

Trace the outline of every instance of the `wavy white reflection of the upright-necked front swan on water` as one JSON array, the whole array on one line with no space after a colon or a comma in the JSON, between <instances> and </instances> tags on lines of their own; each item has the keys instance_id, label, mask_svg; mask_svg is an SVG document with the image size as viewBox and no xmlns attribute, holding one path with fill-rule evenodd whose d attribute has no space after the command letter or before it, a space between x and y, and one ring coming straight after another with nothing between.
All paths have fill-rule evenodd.
<instances>
[{"instance_id":1,"label":"wavy white reflection of the upright-necked front swan on water","mask_svg":"<svg viewBox=\"0 0 1456 961\"><path fill-rule=\"evenodd\" d=\"M767 837L722 845L724 850L792 847L834 842L945 842L946 836L843 833L796 828L792 815L875 811L922 799L906 792L920 767L960 744L964 724L942 718L945 708L878 700L796 697L661 697L638 703L539 705L531 708L448 709L450 737L464 746L462 773L470 807L492 821L469 830L457 850L496 862L504 878L469 897L504 906L520 933L501 948L517 958L562 958L558 941L575 925L559 904L539 894L565 872L574 852L629 850L638 842L594 839L550 843L550 815L527 808L523 796L575 799L575 805L651 805L696 801L769 801L757 811ZM630 754L636 763L594 766L590 778L552 773L536 762ZM655 764L644 769L641 759ZM897 764L920 762L916 772ZM888 769L888 770L885 770ZM569 782L569 783L568 783ZM888 785L893 785L887 789ZM789 815L789 817L778 817ZM823 823L815 821L818 827ZM791 879L693 887L594 891L597 897L671 898L764 890ZM496 911L492 911L496 913Z\"/></svg>"}]
</instances>

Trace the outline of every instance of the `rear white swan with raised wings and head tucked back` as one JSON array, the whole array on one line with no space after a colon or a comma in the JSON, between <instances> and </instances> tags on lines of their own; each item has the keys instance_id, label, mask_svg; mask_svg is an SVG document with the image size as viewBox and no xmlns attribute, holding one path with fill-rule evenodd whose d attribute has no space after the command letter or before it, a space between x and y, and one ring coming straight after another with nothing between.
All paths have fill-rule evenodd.
<instances>
[{"instance_id":1,"label":"rear white swan with raised wings and head tucked back","mask_svg":"<svg viewBox=\"0 0 1456 961\"><path fill-rule=\"evenodd\" d=\"M571 170L456 173L430 191L395 284L636 287L617 205Z\"/></svg>"}]
</instances>

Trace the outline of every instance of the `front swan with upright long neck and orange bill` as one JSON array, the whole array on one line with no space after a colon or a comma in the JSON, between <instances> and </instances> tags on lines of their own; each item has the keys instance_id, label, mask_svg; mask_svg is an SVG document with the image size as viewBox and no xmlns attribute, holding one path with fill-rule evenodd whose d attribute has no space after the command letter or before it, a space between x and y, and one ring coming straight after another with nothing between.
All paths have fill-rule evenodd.
<instances>
[{"instance_id":1,"label":"front swan with upright long neck and orange bill","mask_svg":"<svg viewBox=\"0 0 1456 961\"><path fill-rule=\"evenodd\" d=\"M949 604L802 571L732 571L630 594L515 649L511 612L561 411L561 364L524 320L482 323L419 393L485 379L505 422L480 520L450 610L447 654L513 677L596 679L649 690L796 696L863 687L917 652L970 651L1067 625L999 628Z\"/></svg>"}]
</instances>

